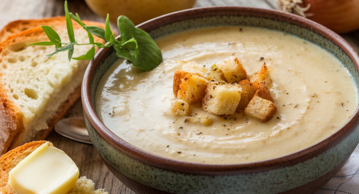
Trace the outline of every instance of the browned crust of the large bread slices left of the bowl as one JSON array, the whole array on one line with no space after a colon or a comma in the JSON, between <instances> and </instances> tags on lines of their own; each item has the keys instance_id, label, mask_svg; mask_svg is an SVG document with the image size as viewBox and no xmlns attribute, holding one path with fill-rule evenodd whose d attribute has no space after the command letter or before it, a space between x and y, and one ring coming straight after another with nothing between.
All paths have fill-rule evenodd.
<instances>
[{"instance_id":1,"label":"browned crust of the large bread slices left of the bowl","mask_svg":"<svg viewBox=\"0 0 359 194\"><path fill-rule=\"evenodd\" d=\"M83 23L105 28L103 23L86 20ZM49 41L41 25L51 26L57 33L60 31L67 34L65 16L36 20L17 20L10 22L0 31L0 78L3 76L1 69L4 68L1 61L5 60L9 52L24 49L30 43ZM82 26L73 22L73 28L82 29ZM94 41L104 44L104 40L97 36L94 36ZM23 115L20 107L9 96L9 91L6 90L5 85L6 83L3 83L0 79L0 155L4 154L10 146L13 148L24 143L18 142L19 135L24 131ZM81 86L78 86L70 94L60 106L60 110L57 110L55 116L47 122L48 128L39 131L33 140L43 140L50 134L55 123L64 117L70 107L80 98L80 88Z\"/></svg>"}]
</instances>

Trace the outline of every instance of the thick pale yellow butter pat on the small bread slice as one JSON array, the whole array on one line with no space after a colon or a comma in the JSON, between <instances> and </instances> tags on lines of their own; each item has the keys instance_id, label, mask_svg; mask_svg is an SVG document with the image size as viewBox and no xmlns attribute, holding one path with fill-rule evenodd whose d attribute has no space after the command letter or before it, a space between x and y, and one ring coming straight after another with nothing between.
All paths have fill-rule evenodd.
<instances>
[{"instance_id":1,"label":"thick pale yellow butter pat on the small bread slice","mask_svg":"<svg viewBox=\"0 0 359 194\"><path fill-rule=\"evenodd\" d=\"M67 194L78 178L74 161L46 142L9 172L8 183L18 194Z\"/></svg>"}]
</instances>

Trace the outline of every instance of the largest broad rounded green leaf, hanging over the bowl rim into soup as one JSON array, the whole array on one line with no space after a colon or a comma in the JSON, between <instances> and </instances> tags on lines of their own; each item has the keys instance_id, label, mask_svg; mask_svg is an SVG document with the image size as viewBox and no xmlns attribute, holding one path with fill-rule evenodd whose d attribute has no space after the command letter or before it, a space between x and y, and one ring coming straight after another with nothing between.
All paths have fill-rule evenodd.
<instances>
[{"instance_id":1,"label":"largest broad rounded green leaf, hanging over the bowl rim into soup","mask_svg":"<svg viewBox=\"0 0 359 194\"><path fill-rule=\"evenodd\" d=\"M138 45L138 51L133 49L132 45L113 45L118 57L128 59L134 66L144 71L151 71L162 62L161 51L148 33L136 28L132 21L123 15L118 17L117 26L121 33L121 45L127 44L131 38L136 39Z\"/></svg>"}]
</instances>

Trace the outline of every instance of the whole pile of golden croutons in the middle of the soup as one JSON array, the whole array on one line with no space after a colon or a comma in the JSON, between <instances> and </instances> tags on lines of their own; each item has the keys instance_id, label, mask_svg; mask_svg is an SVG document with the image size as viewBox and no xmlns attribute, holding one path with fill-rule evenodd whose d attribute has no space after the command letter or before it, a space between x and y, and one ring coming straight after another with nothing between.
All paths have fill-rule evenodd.
<instances>
[{"instance_id":1,"label":"whole pile of golden croutons in the middle of the soup","mask_svg":"<svg viewBox=\"0 0 359 194\"><path fill-rule=\"evenodd\" d=\"M191 103L201 103L203 110L215 115L232 115L244 110L247 116L262 122L277 112L268 88L272 80L265 63L250 76L236 57L229 57L210 69L193 61L178 63L182 69L173 77L173 94L177 100L171 105L176 115L188 116Z\"/></svg>"}]
</instances>

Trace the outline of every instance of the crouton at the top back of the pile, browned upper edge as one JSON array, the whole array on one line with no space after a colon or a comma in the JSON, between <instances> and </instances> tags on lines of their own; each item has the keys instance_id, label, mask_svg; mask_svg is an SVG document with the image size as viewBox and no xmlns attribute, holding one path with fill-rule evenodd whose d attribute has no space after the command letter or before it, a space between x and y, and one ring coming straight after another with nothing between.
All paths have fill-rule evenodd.
<instances>
[{"instance_id":1,"label":"crouton at the top back of the pile, browned upper edge","mask_svg":"<svg viewBox=\"0 0 359 194\"><path fill-rule=\"evenodd\" d=\"M217 64L217 67L222 70L228 83L238 83L247 78L246 70L236 57L227 58L222 63Z\"/></svg>"}]
</instances>

